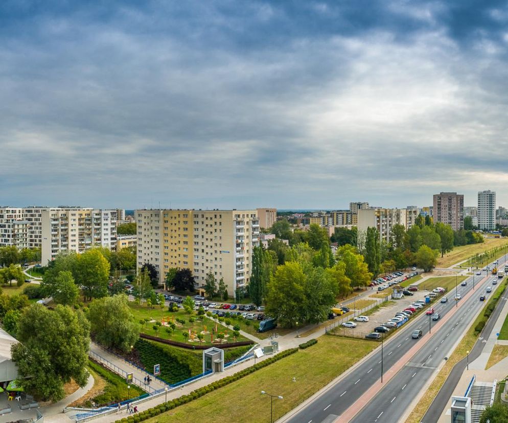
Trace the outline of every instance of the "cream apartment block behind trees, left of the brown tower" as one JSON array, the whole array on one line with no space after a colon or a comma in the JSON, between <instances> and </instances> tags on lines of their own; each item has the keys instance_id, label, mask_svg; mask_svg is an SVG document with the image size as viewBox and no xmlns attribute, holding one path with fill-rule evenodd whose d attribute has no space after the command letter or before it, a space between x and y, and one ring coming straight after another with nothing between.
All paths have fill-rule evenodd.
<instances>
[{"instance_id":1,"label":"cream apartment block behind trees, left of the brown tower","mask_svg":"<svg viewBox=\"0 0 508 423\"><path fill-rule=\"evenodd\" d=\"M394 225L406 226L406 209L404 208L367 208L358 210L358 233L366 233L367 228L374 227L379 231L380 240L390 242L391 228Z\"/></svg>"}]
</instances>

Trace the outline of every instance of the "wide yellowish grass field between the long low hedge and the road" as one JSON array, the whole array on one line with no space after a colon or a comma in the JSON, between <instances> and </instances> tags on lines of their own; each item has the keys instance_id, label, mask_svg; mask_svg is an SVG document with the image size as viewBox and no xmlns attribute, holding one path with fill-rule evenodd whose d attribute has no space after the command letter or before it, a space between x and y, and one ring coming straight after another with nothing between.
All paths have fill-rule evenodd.
<instances>
[{"instance_id":1,"label":"wide yellowish grass field between the long low hedge and the road","mask_svg":"<svg viewBox=\"0 0 508 423\"><path fill-rule=\"evenodd\" d=\"M331 382L378 344L356 339L321 336L318 343L299 350L245 378L208 393L189 404L147 420L173 421L270 421L270 398L261 391L281 395L273 400L273 421ZM296 378L296 382L292 379Z\"/></svg>"}]
</instances>

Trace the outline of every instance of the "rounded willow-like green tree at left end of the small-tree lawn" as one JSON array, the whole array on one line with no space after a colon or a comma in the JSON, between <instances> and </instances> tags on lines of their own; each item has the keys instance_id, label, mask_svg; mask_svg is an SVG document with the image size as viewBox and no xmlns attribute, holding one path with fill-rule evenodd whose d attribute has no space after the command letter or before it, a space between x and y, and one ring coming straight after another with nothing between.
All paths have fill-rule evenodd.
<instances>
[{"instance_id":1,"label":"rounded willow-like green tree at left end of the small-tree lawn","mask_svg":"<svg viewBox=\"0 0 508 423\"><path fill-rule=\"evenodd\" d=\"M95 299L90 303L87 317L98 343L106 348L131 350L140 336L140 327L128 304L125 294Z\"/></svg>"}]
</instances>

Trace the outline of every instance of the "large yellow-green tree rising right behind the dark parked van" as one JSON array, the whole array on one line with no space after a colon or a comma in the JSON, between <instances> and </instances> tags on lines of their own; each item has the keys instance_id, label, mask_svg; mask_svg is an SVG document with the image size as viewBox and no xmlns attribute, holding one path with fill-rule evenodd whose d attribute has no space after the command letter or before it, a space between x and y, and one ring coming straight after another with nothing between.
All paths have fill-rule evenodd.
<instances>
[{"instance_id":1,"label":"large yellow-green tree rising right behind the dark parked van","mask_svg":"<svg viewBox=\"0 0 508 423\"><path fill-rule=\"evenodd\" d=\"M281 326L294 327L302 322L307 277L302 266L288 262L279 266L270 280L266 295L266 314L277 319Z\"/></svg>"}]
</instances>

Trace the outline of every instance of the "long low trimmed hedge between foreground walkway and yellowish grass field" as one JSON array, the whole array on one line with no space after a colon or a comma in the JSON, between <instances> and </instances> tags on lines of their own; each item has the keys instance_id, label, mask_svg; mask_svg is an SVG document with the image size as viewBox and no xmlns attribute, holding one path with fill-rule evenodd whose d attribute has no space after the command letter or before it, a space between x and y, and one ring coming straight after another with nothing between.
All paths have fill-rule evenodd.
<instances>
[{"instance_id":1,"label":"long low trimmed hedge between foreground walkway and yellowish grass field","mask_svg":"<svg viewBox=\"0 0 508 423\"><path fill-rule=\"evenodd\" d=\"M143 420L147 420L151 417L155 417L161 413L164 413L166 411L172 410L180 405L190 403L194 399L197 399L209 392L215 391L216 389L222 388L223 386L229 385L230 383L233 383L248 374L255 372L256 370L262 369L263 367L266 367L275 361L278 361L284 357L287 357L291 354L296 353L298 351L298 348L291 348L286 349L282 351L281 353L270 357L269 359L263 360L260 363L257 363L253 366L247 367L246 369L240 370L238 373L232 374L230 376L227 376L223 379L220 379L218 381L212 382L209 385L203 386L202 388L198 388L195 391L192 391L188 395L182 395L179 398L172 399L171 401L168 401L167 403L160 404L157 407L150 408L148 410L145 410L139 414L134 414L129 417L122 418L120 420L117 420L121 423L138 423Z\"/></svg>"}]
</instances>

